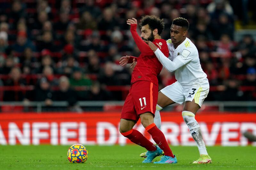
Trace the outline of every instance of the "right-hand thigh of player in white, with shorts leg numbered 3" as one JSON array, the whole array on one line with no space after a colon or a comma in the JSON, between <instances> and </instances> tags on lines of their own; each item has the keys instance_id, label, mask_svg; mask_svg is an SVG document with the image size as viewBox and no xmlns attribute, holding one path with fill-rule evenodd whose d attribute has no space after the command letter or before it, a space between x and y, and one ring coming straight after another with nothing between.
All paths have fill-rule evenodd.
<instances>
[{"instance_id":1,"label":"right-hand thigh of player in white, with shorts leg numbered 3","mask_svg":"<svg viewBox=\"0 0 256 170\"><path fill-rule=\"evenodd\" d=\"M185 96L185 104L183 111L190 111L196 114L197 110L202 106L204 99L209 93L209 88L203 88L200 86L193 86L188 89Z\"/></svg>"}]
</instances>

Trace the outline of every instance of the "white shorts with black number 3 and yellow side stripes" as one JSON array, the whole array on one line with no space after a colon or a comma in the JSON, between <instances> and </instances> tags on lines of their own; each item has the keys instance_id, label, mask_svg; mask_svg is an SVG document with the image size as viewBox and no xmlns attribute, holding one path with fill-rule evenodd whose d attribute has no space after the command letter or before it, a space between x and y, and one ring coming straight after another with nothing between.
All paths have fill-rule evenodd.
<instances>
[{"instance_id":1,"label":"white shorts with black number 3 and yellow side stripes","mask_svg":"<svg viewBox=\"0 0 256 170\"><path fill-rule=\"evenodd\" d=\"M200 85L183 88L183 86L176 81L172 85L168 85L160 90L160 92L175 103L182 104L185 101L192 101L194 99L195 103L201 107L209 93L209 88L200 87Z\"/></svg>"}]
</instances>

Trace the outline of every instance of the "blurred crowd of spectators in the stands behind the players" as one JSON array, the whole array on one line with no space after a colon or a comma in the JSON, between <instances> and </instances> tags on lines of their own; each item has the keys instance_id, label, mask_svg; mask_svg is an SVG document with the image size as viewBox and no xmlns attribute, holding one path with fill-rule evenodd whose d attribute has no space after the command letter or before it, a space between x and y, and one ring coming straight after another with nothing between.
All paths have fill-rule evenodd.
<instances>
[{"instance_id":1,"label":"blurred crowd of spectators in the stands behind the players","mask_svg":"<svg viewBox=\"0 0 256 170\"><path fill-rule=\"evenodd\" d=\"M128 18L164 18L163 39L170 38L172 20L190 23L210 81L207 100L256 99L256 46L250 34L234 41L235 21L256 20L254 1L227 0L29 0L0 2L0 85L3 101L124 100L109 86L130 85L124 55L139 56ZM254 4L255 6L255 4ZM241 10L241 7L243 10ZM249 11L250 14L248 15ZM138 33L140 33L138 28ZM175 82L165 69L159 87ZM116 87L118 89L118 87ZM113 89L113 88L112 88ZM1 96L1 95L0 95Z\"/></svg>"}]
</instances>

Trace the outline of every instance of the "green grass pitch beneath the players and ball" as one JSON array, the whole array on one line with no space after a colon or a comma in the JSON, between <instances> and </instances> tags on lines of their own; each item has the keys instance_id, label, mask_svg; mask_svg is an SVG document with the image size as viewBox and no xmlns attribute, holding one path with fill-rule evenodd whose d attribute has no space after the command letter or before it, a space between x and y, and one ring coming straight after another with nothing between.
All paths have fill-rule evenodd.
<instances>
[{"instance_id":1,"label":"green grass pitch beneath the players and ball","mask_svg":"<svg viewBox=\"0 0 256 170\"><path fill-rule=\"evenodd\" d=\"M68 162L69 146L0 145L0 169L256 169L256 147L207 147L213 163L192 164L199 157L196 146L171 146L177 164L142 164L139 154L145 150L137 145L86 146L89 155L85 163ZM159 160L157 157L155 160Z\"/></svg>"}]
</instances>

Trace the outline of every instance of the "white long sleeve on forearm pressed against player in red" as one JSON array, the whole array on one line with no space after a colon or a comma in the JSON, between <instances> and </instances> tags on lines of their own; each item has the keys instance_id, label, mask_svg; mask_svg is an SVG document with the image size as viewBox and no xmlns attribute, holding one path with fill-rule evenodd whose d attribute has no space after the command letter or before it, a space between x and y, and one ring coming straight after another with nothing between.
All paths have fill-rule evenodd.
<instances>
[{"instance_id":1,"label":"white long sleeve on forearm pressed against player in red","mask_svg":"<svg viewBox=\"0 0 256 170\"><path fill-rule=\"evenodd\" d=\"M166 68L168 71L172 72L180 68L184 65L179 59L174 58L173 61L167 58L162 51L157 48L157 50L154 52L160 63Z\"/></svg>"}]
</instances>

